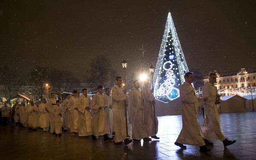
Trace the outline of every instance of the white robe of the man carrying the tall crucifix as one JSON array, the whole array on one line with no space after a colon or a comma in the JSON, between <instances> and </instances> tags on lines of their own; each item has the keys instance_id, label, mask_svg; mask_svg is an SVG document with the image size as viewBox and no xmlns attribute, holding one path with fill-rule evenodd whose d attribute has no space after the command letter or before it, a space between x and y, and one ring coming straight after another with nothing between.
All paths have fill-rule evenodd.
<instances>
[{"instance_id":1,"label":"white robe of the man carrying the tall crucifix","mask_svg":"<svg viewBox=\"0 0 256 160\"><path fill-rule=\"evenodd\" d=\"M141 140L148 136L144 125L144 113L141 91L133 88L129 93L129 105L131 109L132 138Z\"/></svg>"}]
</instances>

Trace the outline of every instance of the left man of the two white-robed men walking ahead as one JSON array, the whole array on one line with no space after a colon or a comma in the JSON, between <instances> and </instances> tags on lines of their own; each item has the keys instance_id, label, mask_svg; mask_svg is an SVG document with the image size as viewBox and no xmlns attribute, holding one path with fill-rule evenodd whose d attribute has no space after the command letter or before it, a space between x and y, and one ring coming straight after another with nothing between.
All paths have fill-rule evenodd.
<instances>
[{"instance_id":1,"label":"left man of the two white-robed men walking ahead","mask_svg":"<svg viewBox=\"0 0 256 160\"><path fill-rule=\"evenodd\" d=\"M192 86L193 73L185 73L184 78L185 82L180 87L182 129L174 144L183 149L186 149L183 144L200 146L200 152L209 152L211 150L205 146L198 123L198 98ZM207 98L204 98L204 101L207 101Z\"/></svg>"}]
</instances>

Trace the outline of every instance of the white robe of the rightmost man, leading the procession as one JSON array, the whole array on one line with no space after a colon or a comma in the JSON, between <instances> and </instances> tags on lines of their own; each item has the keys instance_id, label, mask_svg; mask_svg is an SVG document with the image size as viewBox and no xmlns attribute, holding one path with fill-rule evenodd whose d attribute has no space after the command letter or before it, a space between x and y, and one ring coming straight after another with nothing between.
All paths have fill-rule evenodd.
<instances>
[{"instance_id":1,"label":"white robe of the rightmost man, leading the procession","mask_svg":"<svg viewBox=\"0 0 256 160\"><path fill-rule=\"evenodd\" d=\"M225 140L225 136L221 132L220 118L218 115L217 104L215 104L217 87L206 82L203 87L203 97L208 98L204 105L204 125L203 138L207 140Z\"/></svg>"}]
</instances>

